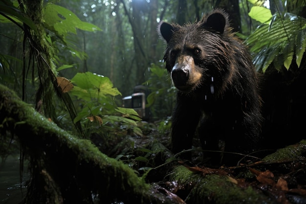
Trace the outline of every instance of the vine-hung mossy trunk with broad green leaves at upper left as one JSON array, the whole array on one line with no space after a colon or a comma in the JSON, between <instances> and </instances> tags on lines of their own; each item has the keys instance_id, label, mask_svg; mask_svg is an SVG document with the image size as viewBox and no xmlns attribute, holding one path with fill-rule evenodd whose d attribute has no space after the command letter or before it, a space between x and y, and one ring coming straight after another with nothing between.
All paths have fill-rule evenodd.
<instances>
[{"instance_id":1,"label":"vine-hung mossy trunk with broad green leaves at upper left","mask_svg":"<svg viewBox=\"0 0 306 204\"><path fill-rule=\"evenodd\" d=\"M22 49L17 49L22 50L20 53L22 63L18 64L19 66L13 65L15 61L20 62L20 59L0 54L3 73L14 75L13 77L0 77L0 82L12 87L12 83L9 82L21 81L22 99L26 100L27 95L35 94L33 103L36 105L36 109L61 125L57 121L58 117L55 113L55 110L57 112L64 110L61 103L55 102L55 97L58 96L73 120L76 116L73 102L65 91L58 89L59 78L57 77L58 71L73 66L63 64L58 53L65 47L74 53L74 56L84 59L86 54L78 51L76 46L67 39L71 34L75 35L77 29L85 31L101 29L91 23L82 22L68 9L43 0L1 0L0 23L13 23L22 30L23 34L20 39ZM18 70L18 68L22 68L22 70ZM35 91L35 93L26 89L30 81L32 81L30 87L34 87L31 91ZM78 133L83 135L79 122L76 122L75 125Z\"/></svg>"}]
</instances>

